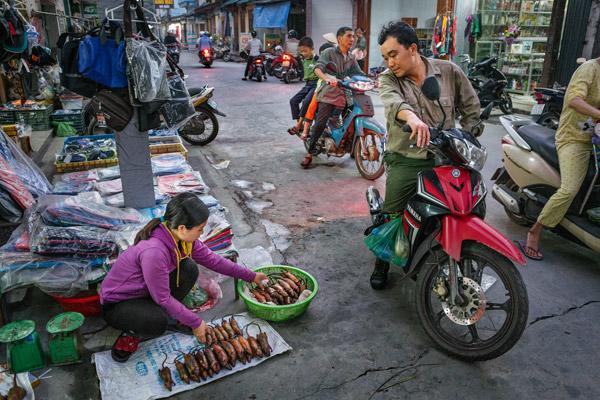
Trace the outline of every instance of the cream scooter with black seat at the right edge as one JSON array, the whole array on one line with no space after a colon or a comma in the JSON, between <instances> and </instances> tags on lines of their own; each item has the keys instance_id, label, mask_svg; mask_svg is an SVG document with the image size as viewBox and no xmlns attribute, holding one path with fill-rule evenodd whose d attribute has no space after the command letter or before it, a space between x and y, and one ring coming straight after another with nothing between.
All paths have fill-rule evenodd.
<instances>
[{"instance_id":1,"label":"cream scooter with black seat at the right edge","mask_svg":"<svg viewBox=\"0 0 600 400\"><path fill-rule=\"evenodd\" d=\"M504 165L492 177L492 194L513 222L530 226L560 187L556 131L518 117L500 117L500 122L507 132L502 138ZM589 221L585 212L600 207L599 162L600 148L594 145L581 189L555 229L567 239L598 252L600 226Z\"/></svg>"}]
</instances>

